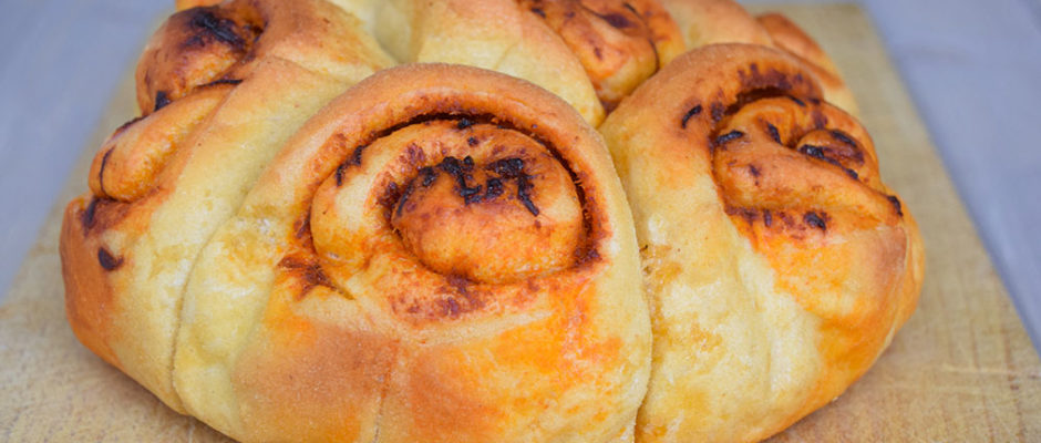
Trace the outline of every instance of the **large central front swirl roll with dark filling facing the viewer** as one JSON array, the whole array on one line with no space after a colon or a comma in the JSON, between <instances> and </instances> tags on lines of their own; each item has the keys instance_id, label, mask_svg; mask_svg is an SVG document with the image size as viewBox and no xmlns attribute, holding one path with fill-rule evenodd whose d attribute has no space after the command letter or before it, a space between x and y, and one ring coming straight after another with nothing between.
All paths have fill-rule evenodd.
<instances>
[{"instance_id":1,"label":"large central front swirl roll with dark filling facing the viewer","mask_svg":"<svg viewBox=\"0 0 1041 443\"><path fill-rule=\"evenodd\" d=\"M175 384L243 441L631 441L651 343L630 217L558 97L468 66L382 71L200 254Z\"/></svg>"}]
</instances>

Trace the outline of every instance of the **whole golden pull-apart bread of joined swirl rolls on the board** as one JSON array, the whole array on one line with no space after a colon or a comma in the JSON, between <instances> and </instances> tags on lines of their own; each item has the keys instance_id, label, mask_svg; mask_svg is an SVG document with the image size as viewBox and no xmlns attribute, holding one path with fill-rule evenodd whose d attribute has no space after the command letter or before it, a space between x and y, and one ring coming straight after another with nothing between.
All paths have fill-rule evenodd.
<instances>
[{"instance_id":1,"label":"whole golden pull-apart bread of joined swirl rolls on the board","mask_svg":"<svg viewBox=\"0 0 1041 443\"><path fill-rule=\"evenodd\" d=\"M914 218L783 18L176 4L66 208L66 310L235 439L754 441L914 309Z\"/></svg>"}]
</instances>

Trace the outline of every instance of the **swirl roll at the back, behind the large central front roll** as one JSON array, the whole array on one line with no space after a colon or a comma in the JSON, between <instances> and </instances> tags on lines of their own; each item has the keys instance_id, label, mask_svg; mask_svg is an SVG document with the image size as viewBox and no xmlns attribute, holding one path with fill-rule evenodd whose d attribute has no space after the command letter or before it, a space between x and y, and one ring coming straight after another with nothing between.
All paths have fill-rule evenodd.
<instances>
[{"instance_id":1,"label":"swirl roll at the back, behind the large central front roll","mask_svg":"<svg viewBox=\"0 0 1041 443\"><path fill-rule=\"evenodd\" d=\"M559 95L597 125L683 51L657 0L336 0L401 62L491 69Z\"/></svg>"}]
</instances>

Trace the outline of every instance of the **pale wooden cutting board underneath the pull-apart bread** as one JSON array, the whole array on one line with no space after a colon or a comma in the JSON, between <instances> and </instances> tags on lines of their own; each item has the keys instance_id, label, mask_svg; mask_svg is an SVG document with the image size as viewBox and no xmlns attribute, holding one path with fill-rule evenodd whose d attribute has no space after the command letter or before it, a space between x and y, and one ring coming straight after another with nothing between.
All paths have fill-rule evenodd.
<instances>
[{"instance_id":1,"label":"pale wooden cutting board underneath the pull-apart bread","mask_svg":"<svg viewBox=\"0 0 1041 443\"><path fill-rule=\"evenodd\" d=\"M1041 363L921 121L854 6L791 6L856 94L886 181L921 224L918 311L859 382L775 441L1041 441ZM763 10L756 8L756 10ZM0 439L225 441L177 415L76 342L64 318L61 208L101 141L134 114L127 79L0 307Z\"/></svg>"}]
</instances>

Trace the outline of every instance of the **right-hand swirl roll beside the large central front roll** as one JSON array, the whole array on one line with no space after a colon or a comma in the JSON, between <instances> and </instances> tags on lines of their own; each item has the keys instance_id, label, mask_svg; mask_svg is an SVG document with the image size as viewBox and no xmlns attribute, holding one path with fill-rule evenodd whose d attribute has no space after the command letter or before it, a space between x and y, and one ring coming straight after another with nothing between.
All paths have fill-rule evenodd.
<instances>
[{"instance_id":1,"label":"right-hand swirl roll beside the large central front roll","mask_svg":"<svg viewBox=\"0 0 1041 443\"><path fill-rule=\"evenodd\" d=\"M600 131L655 334L637 441L765 439L839 395L914 310L915 220L793 56L691 51Z\"/></svg>"}]
</instances>

